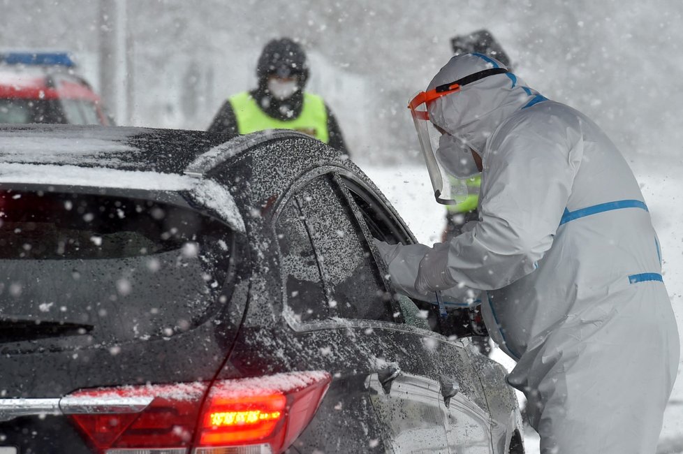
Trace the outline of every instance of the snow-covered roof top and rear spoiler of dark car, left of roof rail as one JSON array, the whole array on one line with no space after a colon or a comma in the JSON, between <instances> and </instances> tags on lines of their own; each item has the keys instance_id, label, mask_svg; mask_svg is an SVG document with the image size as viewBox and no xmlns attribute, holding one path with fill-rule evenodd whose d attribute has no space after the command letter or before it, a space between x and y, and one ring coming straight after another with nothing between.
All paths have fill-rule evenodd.
<instances>
[{"instance_id":1,"label":"snow-covered roof top and rear spoiler of dark car, left of roof rail","mask_svg":"<svg viewBox=\"0 0 683 454\"><path fill-rule=\"evenodd\" d=\"M184 174L226 136L101 126L0 126L0 184L186 191L234 230L244 221L226 188Z\"/></svg>"}]
</instances>

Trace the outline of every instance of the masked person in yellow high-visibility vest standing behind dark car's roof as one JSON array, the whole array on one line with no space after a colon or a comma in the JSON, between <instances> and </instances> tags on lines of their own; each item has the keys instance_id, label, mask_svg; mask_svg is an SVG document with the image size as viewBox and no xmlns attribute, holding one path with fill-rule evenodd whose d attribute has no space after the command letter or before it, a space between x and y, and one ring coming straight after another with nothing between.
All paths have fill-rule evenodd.
<instances>
[{"instance_id":1,"label":"masked person in yellow high-visibility vest standing behind dark car's roof","mask_svg":"<svg viewBox=\"0 0 683 454\"><path fill-rule=\"evenodd\" d=\"M208 131L248 134L293 129L348 154L337 119L323 98L304 91L309 77L306 54L289 38L267 43L256 66L258 87L223 103Z\"/></svg>"}]
</instances>

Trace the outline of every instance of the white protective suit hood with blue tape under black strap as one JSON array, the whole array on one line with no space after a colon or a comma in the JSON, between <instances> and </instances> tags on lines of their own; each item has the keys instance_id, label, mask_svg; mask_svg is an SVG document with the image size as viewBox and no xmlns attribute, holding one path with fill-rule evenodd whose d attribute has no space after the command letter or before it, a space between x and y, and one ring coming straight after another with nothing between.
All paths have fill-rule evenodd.
<instances>
[{"instance_id":1,"label":"white protective suit hood with blue tape under black strap","mask_svg":"<svg viewBox=\"0 0 683 454\"><path fill-rule=\"evenodd\" d=\"M505 66L476 52L456 55L436 73L427 90L490 68ZM464 85L456 93L436 98L427 110L432 123L462 140L483 158L484 145L498 126L537 99L545 98L526 87L513 73L505 73L490 75Z\"/></svg>"}]
</instances>

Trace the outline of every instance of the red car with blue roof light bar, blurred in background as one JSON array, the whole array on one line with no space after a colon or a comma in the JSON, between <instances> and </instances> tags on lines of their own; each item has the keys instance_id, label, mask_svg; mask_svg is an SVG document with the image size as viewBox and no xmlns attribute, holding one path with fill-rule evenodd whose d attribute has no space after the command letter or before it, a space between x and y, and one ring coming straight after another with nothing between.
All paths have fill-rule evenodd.
<instances>
[{"instance_id":1,"label":"red car with blue roof light bar, blurred in background","mask_svg":"<svg viewBox=\"0 0 683 454\"><path fill-rule=\"evenodd\" d=\"M61 52L0 54L0 123L112 125L74 67Z\"/></svg>"}]
</instances>

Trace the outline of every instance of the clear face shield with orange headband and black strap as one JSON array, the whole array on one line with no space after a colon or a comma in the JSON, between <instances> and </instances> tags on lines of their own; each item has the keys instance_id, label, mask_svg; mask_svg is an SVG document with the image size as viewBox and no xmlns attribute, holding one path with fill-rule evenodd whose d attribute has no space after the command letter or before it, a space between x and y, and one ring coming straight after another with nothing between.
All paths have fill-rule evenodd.
<instances>
[{"instance_id":1,"label":"clear face shield with orange headband and black strap","mask_svg":"<svg viewBox=\"0 0 683 454\"><path fill-rule=\"evenodd\" d=\"M490 75L504 74L508 70L505 68L490 68L477 73L470 74L464 78L449 82L447 84L439 85L434 89L428 91L420 91L414 96L408 104L413 117L413 123L418 133L418 140L425 156L425 163L429 171L429 179L432 180L432 187L434 188L434 198L436 202L443 205L457 205L467 197L467 190L461 193L460 186L454 180L457 180L451 173L449 173L443 166L440 165L436 159L435 150L438 148L438 141L441 133L434 129L434 126L429 121L429 112L427 107L441 96L453 94L460 91L464 85L471 84L477 80L487 78ZM434 144L434 145L432 145ZM455 184L454 184L455 183Z\"/></svg>"}]
</instances>

